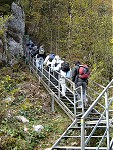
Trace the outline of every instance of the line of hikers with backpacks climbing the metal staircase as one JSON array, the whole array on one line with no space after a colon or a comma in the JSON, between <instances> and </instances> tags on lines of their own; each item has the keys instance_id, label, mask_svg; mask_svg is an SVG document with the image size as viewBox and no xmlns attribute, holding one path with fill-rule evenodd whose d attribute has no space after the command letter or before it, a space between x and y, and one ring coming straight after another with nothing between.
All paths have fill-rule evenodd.
<instances>
[{"instance_id":1,"label":"line of hikers with backpacks climbing the metal staircase","mask_svg":"<svg viewBox=\"0 0 113 150\"><path fill-rule=\"evenodd\" d=\"M36 46L33 42L29 42L27 45L29 47L30 55L33 60L35 58L35 63L37 69L42 69L43 66L47 67L47 70L52 74L54 72L54 76L56 78L55 86L58 86L58 80L62 87L62 97L66 96L66 80L65 78L69 78L75 83L75 87L82 87L83 101L86 104L86 87L88 83L88 77L90 75L89 69L87 65L82 65L80 61L74 62L74 67L71 69L69 63L66 61L65 57L59 57L54 53L48 54L46 56L44 46ZM58 79L58 73L60 74L60 78ZM81 95L81 90L78 88L78 96ZM77 97L79 99L79 97ZM82 102L78 103L78 106L82 106Z\"/></svg>"}]
</instances>

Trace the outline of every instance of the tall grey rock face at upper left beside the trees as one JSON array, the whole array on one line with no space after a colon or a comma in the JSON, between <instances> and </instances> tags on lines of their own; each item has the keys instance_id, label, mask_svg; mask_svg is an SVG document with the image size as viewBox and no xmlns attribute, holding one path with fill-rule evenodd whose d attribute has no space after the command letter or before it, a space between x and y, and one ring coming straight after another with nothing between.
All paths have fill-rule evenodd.
<instances>
[{"instance_id":1,"label":"tall grey rock face at upper left beside the trees","mask_svg":"<svg viewBox=\"0 0 113 150\"><path fill-rule=\"evenodd\" d=\"M23 35L25 32L25 15L21 7L14 2L11 5L12 17L7 23L8 50L12 57L23 54Z\"/></svg>"}]
</instances>

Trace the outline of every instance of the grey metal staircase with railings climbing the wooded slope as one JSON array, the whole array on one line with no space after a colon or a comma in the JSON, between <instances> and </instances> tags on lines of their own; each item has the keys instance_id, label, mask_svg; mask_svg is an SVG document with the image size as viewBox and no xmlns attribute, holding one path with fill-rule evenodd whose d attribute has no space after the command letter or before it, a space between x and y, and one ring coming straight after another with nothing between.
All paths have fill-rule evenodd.
<instances>
[{"instance_id":1,"label":"grey metal staircase with railings climbing the wooded slope","mask_svg":"<svg viewBox=\"0 0 113 150\"><path fill-rule=\"evenodd\" d=\"M28 52L27 61L28 61ZM26 56L26 55L25 55ZM52 96L52 110L54 101L71 118L72 124L55 142L51 150L112 150L113 148L113 80L106 86L92 82L92 87L87 89L89 106L83 104L83 95L78 99L74 83L66 80L66 96L62 97L59 82L60 73L36 68L35 59L29 55L29 67ZM58 79L55 74L58 74ZM57 83L57 84L56 84ZM82 91L82 87L79 87ZM97 90L95 90L97 89ZM79 101L82 107L78 107Z\"/></svg>"}]
</instances>

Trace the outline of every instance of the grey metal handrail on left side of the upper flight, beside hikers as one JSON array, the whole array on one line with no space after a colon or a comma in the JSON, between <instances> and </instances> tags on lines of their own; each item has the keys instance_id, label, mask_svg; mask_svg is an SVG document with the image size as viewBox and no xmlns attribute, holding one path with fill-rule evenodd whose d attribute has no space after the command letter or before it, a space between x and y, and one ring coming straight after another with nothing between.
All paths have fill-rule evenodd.
<instances>
[{"instance_id":1,"label":"grey metal handrail on left side of the upper flight, beside hikers","mask_svg":"<svg viewBox=\"0 0 113 150\"><path fill-rule=\"evenodd\" d=\"M27 53L27 55L28 55L28 53ZM34 70L35 70L35 73L36 73L36 74L39 73L39 74L40 74L40 78L41 78L43 81L44 81L44 78L47 80L48 83L46 83L46 85L48 86L48 88L50 88L50 85L52 85L52 86L58 91L58 93L54 93L54 96L57 98L57 102L60 103L60 104L63 106L64 111L67 110L68 113L71 114L71 116L73 116L73 119L72 119L72 118L71 118L71 119L74 120L74 119L76 118L76 116L77 116L77 103L79 103L79 101L81 101L81 104L82 104L81 115L82 115L82 114L84 113L82 87L80 86L80 87L78 87L78 88L75 88L75 83L74 83L74 82L72 82L70 79L68 79L68 78L66 78L66 77L63 77L63 78L66 80L66 83L68 82L68 83L71 85L70 88L69 88L67 85L64 85L65 88L66 88L66 90L69 91L69 92L73 95L73 100L70 99L70 98L68 97L68 95L65 96L67 102L69 102L69 103L72 105L72 107L69 108L69 106L67 106L67 105L61 100L61 97L60 97L60 95L62 94L61 89L60 89L60 84L61 84L61 83L60 83L59 79L57 79L57 78L54 76L54 74L52 74L52 73L50 72L50 71L51 71L51 67L48 67L49 70L47 70L45 67L42 66L42 69L40 70L40 69L38 69L38 68L36 67L35 61L36 61L36 60L32 59L32 58L31 58L31 55L29 54L29 66L30 66L30 68L32 69L32 67L33 67ZM46 75L44 74L44 72L45 72L46 74L48 74L48 75L46 76ZM57 73L58 76L59 76L59 78L61 77L61 74L60 74L59 72L54 71L53 73ZM56 85L51 81L51 78L53 78L55 81L58 82L58 86L56 86ZM44 82L45 82L45 81L44 81ZM79 100L76 99L76 94L77 94L76 91L77 91L77 89L80 89L80 91L81 91L81 95L80 95L80 99L79 99ZM52 89L51 89L51 90L52 90ZM53 92L54 92L54 91L53 91ZM70 110L70 109L72 109L72 110ZM72 111L73 111L73 113L72 113Z\"/></svg>"}]
</instances>

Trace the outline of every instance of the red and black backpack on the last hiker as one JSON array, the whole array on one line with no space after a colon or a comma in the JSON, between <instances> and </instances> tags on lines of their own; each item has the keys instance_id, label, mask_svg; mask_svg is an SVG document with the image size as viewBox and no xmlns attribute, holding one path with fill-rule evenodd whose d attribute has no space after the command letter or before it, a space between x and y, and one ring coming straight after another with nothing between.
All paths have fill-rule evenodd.
<instances>
[{"instance_id":1,"label":"red and black backpack on the last hiker","mask_svg":"<svg viewBox=\"0 0 113 150\"><path fill-rule=\"evenodd\" d=\"M80 65L79 66L79 78L87 79L90 75L89 68L87 65Z\"/></svg>"}]
</instances>

